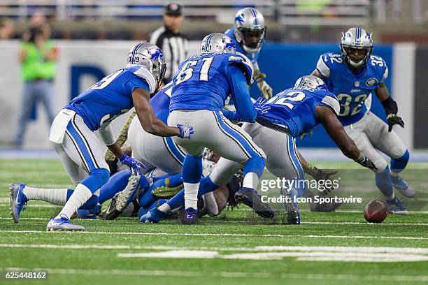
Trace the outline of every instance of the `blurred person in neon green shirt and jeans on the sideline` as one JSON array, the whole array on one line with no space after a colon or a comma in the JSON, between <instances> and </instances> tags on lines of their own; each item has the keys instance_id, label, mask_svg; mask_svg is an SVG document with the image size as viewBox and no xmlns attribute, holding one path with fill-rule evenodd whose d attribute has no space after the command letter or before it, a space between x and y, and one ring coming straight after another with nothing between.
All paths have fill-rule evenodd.
<instances>
[{"instance_id":1,"label":"blurred person in neon green shirt and jeans on the sideline","mask_svg":"<svg viewBox=\"0 0 428 285\"><path fill-rule=\"evenodd\" d=\"M35 17L33 17L34 19ZM43 103L48 114L48 125L52 124L55 113L53 110L53 80L57 60L57 49L50 41L50 27L45 18L36 16L31 20L31 27L22 36L19 60L22 67L24 93L20 119L17 128L15 145L22 147L22 140L27 123L34 114L38 102Z\"/></svg>"}]
</instances>

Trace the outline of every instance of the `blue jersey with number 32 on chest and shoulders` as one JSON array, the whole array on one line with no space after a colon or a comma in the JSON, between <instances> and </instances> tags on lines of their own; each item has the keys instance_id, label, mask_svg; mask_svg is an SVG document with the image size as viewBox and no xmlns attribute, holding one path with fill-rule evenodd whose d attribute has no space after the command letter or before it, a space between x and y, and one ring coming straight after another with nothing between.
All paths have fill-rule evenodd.
<instances>
[{"instance_id":1,"label":"blue jersey with number 32 on chest and shoulders","mask_svg":"<svg viewBox=\"0 0 428 285\"><path fill-rule=\"evenodd\" d=\"M341 104L338 119L344 126L359 121L366 114L366 98L388 76L385 61L376 55L371 55L360 73L352 73L341 54L322 54L317 70Z\"/></svg>"}]
</instances>

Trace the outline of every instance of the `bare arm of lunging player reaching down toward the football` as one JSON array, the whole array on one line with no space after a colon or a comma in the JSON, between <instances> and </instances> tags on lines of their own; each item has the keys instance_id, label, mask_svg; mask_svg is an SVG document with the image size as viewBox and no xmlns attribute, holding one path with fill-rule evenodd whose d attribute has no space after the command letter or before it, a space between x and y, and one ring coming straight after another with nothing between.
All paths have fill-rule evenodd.
<instances>
[{"instance_id":1,"label":"bare arm of lunging player reaching down toward the football","mask_svg":"<svg viewBox=\"0 0 428 285\"><path fill-rule=\"evenodd\" d=\"M353 159L364 167L377 170L373 162L359 152L354 140L352 140L352 138L350 138L345 132L341 122L339 122L336 114L334 114L331 108L318 105L315 107L315 113L330 138L336 143L345 156L348 156L350 159Z\"/></svg>"}]
</instances>

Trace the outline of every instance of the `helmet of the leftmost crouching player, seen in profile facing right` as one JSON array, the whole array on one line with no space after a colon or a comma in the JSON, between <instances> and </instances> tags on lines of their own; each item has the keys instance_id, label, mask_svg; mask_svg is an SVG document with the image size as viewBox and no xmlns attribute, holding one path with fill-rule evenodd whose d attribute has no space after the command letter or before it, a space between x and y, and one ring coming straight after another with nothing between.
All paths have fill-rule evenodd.
<instances>
[{"instance_id":1,"label":"helmet of the leftmost crouching player, seen in profile facing right","mask_svg":"<svg viewBox=\"0 0 428 285\"><path fill-rule=\"evenodd\" d=\"M166 65L164 64L164 54L157 45L146 42L137 43L128 52L127 64L147 68L157 80L156 91L162 85Z\"/></svg>"}]
</instances>

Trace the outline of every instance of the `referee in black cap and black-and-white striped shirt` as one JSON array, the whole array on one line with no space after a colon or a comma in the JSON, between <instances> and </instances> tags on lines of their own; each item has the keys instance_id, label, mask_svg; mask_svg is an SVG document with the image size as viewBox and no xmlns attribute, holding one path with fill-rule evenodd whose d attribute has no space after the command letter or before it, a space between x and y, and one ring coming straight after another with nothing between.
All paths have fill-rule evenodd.
<instances>
[{"instance_id":1,"label":"referee in black cap and black-and-white striped shirt","mask_svg":"<svg viewBox=\"0 0 428 285\"><path fill-rule=\"evenodd\" d=\"M180 33L184 16L183 6L169 3L164 6L164 25L152 32L150 43L155 43L164 53L166 73L164 84L168 83L181 61L187 59L187 38Z\"/></svg>"}]
</instances>

